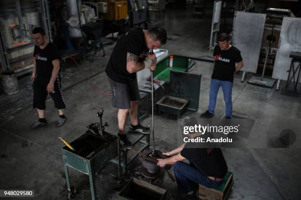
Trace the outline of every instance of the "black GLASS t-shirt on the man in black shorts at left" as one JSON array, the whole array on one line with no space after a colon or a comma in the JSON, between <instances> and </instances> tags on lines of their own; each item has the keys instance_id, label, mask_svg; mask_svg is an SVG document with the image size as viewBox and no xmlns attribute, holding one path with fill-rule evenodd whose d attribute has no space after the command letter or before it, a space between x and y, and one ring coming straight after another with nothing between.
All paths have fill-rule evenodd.
<instances>
[{"instance_id":1,"label":"black GLASS t-shirt on the man in black shorts at left","mask_svg":"<svg viewBox=\"0 0 301 200\"><path fill-rule=\"evenodd\" d=\"M39 77L50 78L53 70L52 61L60 60L60 51L49 42L44 49L34 46L33 57L35 58L36 74Z\"/></svg>"}]
</instances>

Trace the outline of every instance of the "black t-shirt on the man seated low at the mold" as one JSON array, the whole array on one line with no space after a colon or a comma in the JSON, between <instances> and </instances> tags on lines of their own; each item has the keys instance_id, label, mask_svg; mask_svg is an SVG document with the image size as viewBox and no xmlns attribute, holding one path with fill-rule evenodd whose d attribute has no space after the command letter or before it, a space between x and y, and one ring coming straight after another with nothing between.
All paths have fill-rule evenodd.
<instances>
[{"instance_id":1,"label":"black t-shirt on the man seated low at the mold","mask_svg":"<svg viewBox=\"0 0 301 200\"><path fill-rule=\"evenodd\" d=\"M204 175L223 178L228 172L227 163L220 148L186 148L185 146L181 150L181 156Z\"/></svg>"}]
</instances>

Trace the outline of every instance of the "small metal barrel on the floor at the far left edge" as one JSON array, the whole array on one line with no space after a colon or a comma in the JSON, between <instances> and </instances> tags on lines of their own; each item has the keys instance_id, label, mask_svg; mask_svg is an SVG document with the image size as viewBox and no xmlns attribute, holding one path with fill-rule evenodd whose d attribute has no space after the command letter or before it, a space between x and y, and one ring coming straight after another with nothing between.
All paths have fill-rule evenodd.
<instances>
[{"instance_id":1,"label":"small metal barrel on the floor at the far left edge","mask_svg":"<svg viewBox=\"0 0 301 200\"><path fill-rule=\"evenodd\" d=\"M1 82L6 95L14 95L19 92L18 79L14 71L2 72Z\"/></svg>"}]
</instances>

